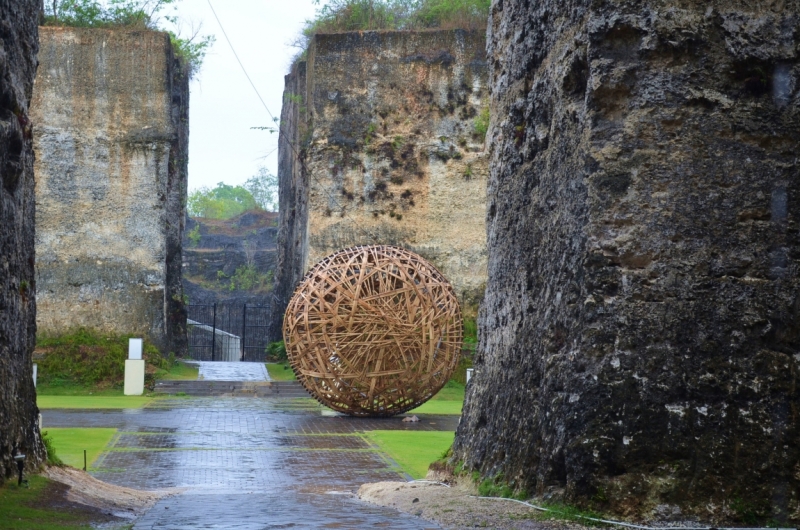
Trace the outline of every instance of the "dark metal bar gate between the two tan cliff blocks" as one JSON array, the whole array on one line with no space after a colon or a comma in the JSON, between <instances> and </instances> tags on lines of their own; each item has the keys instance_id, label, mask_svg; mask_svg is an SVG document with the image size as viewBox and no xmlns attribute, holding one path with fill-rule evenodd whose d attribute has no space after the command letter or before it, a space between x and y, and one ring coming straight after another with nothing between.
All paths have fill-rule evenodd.
<instances>
[{"instance_id":1,"label":"dark metal bar gate between the two tan cliff blocks","mask_svg":"<svg viewBox=\"0 0 800 530\"><path fill-rule=\"evenodd\" d=\"M189 357L197 361L264 362L269 306L187 306Z\"/></svg>"}]
</instances>

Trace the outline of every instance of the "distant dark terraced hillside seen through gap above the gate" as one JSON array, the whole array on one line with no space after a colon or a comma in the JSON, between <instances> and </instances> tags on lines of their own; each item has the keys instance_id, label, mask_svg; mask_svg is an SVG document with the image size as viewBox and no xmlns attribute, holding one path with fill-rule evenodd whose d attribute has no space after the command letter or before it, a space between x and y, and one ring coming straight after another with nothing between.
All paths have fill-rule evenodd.
<instances>
[{"instance_id":1,"label":"distant dark terraced hillside seen through gap above the gate","mask_svg":"<svg viewBox=\"0 0 800 530\"><path fill-rule=\"evenodd\" d=\"M190 217L183 241L189 304L266 305L275 268L276 212L249 211L221 221Z\"/></svg>"}]
</instances>

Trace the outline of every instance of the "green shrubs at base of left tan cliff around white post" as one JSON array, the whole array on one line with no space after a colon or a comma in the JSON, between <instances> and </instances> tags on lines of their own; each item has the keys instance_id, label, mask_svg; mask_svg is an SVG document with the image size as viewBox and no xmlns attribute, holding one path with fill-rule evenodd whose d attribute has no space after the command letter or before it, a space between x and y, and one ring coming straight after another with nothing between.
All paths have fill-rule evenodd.
<instances>
[{"instance_id":1,"label":"green shrubs at base of left tan cliff around white post","mask_svg":"<svg viewBox=\"0 0 800 530\"><path fill-rule=\"evenodd\" d=\"M121 386L125 379L128 339L133 335L101 335L79 329L58 336L37 337L38 379L43 385L81 385L98 388ZM173 360L165 358L149 342L143 357L155 368L169 369Z\"/></svg>"}]
</instances>

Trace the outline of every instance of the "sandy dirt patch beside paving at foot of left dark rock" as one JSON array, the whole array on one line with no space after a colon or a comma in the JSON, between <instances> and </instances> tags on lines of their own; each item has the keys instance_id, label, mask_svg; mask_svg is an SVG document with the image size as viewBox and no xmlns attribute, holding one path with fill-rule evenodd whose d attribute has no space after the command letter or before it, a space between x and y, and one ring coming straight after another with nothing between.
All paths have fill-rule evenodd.
<instances>
[{"instance_id":1,"label":"sandy dirt patch beside paving at foot of left dark rock","mask_svg":"<svg viewBox=\"0 0 800 530\"><path fill-rule=\"evenodd\" d=\"M105 513L131 519L144 514L160 499L182 490L143 491L114 486L72 467L49 467L43 475L69 487L70 502L97 508Z\"/></svg>"}]
</instances>

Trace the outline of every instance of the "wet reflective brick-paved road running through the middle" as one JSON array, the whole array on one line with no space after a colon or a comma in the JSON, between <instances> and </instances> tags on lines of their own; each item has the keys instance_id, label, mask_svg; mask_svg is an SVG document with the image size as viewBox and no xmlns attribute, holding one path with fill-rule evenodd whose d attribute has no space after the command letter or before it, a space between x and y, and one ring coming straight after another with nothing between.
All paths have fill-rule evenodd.
<instances>
[{"instance_id":1,"label":"wet reflective brick-paved road running through the middle","mask_svg":"<svg viewBox=\"0 0 800 530\"><path fill-rule=\"evenodd\" d=\"M46 410L50 427L114 427L94 463L101 480L186 488L134 528L438 528L347 495L408 477L364 436L375 429L455 430L455 416L419 423L335 415L311 399L157 400L139 410Z\"/></svg>"}]
</instances>

